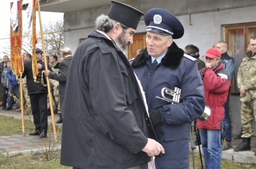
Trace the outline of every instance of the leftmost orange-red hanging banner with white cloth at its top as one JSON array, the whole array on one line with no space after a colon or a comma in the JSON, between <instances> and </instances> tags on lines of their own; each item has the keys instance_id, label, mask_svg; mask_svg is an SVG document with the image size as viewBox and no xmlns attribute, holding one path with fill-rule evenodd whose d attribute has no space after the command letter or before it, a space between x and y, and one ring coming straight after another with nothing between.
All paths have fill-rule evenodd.
<instances>
[{"instance_id":1,"label":"leftmost orange-red hanging banner with white cloth at its top","mask_svg":"<svg viewBox=\"0 0 256 169\"><path fill-rule=\"evenodd\" d=\"M14 5L13 5L14 4ZM13 7L13 8L12 8ZM24 71L23 59L21 54L22 48L22 1L11 3L11 13L13 17L11 19L11 63L12 71L16 76L19 76ZM17 24L13 24L17 23Z\"/></svg>"}]
</instances>

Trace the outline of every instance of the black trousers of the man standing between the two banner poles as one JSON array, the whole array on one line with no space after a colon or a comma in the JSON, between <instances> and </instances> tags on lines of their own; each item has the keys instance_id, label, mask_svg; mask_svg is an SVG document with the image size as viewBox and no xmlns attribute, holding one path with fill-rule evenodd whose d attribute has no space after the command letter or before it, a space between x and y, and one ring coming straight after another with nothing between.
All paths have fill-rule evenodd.
<instances>
[{"instance_id":1,"label":"black trousers of the man standing between the two banner poles","mask_svg":"<svg viewBox=\"0 0 256 169\"><path fill-rule=\"evenodd\" d=\"M47 133L47 93L30 94L31 109L35 124L35 131Z\"/></svg>"}]
</instances>

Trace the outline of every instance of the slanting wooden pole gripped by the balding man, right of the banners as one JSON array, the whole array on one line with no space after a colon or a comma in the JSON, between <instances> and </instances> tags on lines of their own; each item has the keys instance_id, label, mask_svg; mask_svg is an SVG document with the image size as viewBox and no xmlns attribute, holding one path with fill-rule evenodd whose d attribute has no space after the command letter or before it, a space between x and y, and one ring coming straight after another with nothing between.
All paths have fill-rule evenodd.
<instances>
[{"instance_id":1,"label":"slanting wooden pole gripped by the balding man, right of the banners","mask_svg":"<svg viewBox=\"0 0 256 169\"><path fill-rule=\"evenodd\" d=\"M39 22L40 22L40 32L41 32L41 38L42 38L42 46L43 46L43 51L44 51L44 65L45 65L45 70L48 70L47 61L46 61L46 57L45 57L46 54L45 54L44 33L43 33L42 20L41 20L40 3L39 3L39 0L36 0L36 2L37 2L37 8L38 8ZM53 128L55 142L57 142L56 127L55 127L55 121L54 121L54 113L53 113L53 108L52 108L52 94L51 94L49 77L46 77L46 81L47 81L47 89L48 89L49 102L50 102L50 108L51 108L52 128Z\"/></svg>"}]
</instances>

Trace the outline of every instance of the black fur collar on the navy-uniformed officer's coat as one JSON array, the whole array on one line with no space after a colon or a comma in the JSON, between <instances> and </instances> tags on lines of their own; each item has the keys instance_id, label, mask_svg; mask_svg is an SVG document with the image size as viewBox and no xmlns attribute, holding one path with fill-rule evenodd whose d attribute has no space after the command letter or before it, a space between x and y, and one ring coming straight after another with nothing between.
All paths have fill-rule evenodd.
<instances>
[{"instance_id":1,"label":"black fur collar on the navy-uniformed officer's coat","mask_svg":"<svg viewBox=\"0 0 256 169\"><path fill-rule=\"evenodd\" d=\"M168 48L166 55L161 60L161 63L164 66L176 69L180 64L183 55L184 50L179 48L173 41L172 45ZM138 68L140 66L143 66L147 62L148 57L150 57L150 55L148 55L147 48L145 48L142 54L138 54L134 58L134 61L132 62L132 68Z\"/></svg>"}]
</instances>

